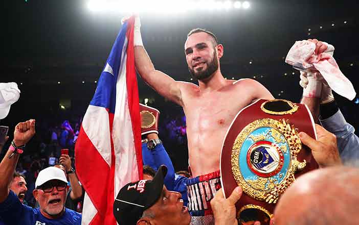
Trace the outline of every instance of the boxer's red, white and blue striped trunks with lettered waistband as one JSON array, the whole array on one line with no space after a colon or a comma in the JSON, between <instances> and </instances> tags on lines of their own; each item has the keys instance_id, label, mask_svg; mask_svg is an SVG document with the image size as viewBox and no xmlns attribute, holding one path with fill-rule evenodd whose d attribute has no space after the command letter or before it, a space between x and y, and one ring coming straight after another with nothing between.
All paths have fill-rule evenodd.
<instances>
[{"instance_id":1,"label":"boxer's red, white and blue striped trunks with lettered waistband","mask_svg":"<svg viewBox=\"0 0 359 225\"><path fill-rule=\"evenodd\" d=\"M188 211L192 225L214 224L211 200L221 188L220 172L211 172L186 181Z\"/></svg>"}]
</instances>

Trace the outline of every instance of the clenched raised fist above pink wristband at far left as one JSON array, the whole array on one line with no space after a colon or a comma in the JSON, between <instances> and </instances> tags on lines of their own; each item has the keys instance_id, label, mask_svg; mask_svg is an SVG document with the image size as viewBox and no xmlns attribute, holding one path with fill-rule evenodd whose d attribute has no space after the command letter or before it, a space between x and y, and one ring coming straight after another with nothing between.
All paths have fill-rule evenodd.
<instances>
[{"instance_id":1,"label":"clenched raised fist above pink wristband at far left","mask_svg":"<svg viewBox=\"0 0 359 225\"><path fill-rule=\"evenodd\" d=\"M35 119L19 122L14 131L14 143L17 147L29 142L35 135Z\"/></svg>"}]
</instances>

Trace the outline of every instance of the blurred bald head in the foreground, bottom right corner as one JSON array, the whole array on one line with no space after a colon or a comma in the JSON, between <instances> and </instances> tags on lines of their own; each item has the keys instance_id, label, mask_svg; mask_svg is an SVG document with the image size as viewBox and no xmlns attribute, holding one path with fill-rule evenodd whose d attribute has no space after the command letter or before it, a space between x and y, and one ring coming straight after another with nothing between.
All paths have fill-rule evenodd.
<instances>
[{"instance_id":1,"label":"blurred bald head in the foreground, bottom right corner","mask_svg":"<svg viewBox=\"0 0 359 225\"><path fill-rule=\"evenodd\" d=\"M357 224L358 187L358 168L329 167L306 173L279 199L275 224Z\"/></svg>"}]
</instances>

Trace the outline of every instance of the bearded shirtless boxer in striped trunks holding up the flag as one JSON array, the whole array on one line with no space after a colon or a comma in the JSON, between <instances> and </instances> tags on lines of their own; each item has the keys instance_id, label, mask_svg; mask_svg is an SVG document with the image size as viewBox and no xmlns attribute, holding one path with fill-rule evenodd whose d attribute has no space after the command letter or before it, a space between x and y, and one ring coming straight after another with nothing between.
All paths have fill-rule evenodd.
<instances>
[{"instance_id":1,"label":"bearded shirtless boxer in striped trunks holding up the flag","mask_svg":"<svg viewBox=\"0 0 359 225\"><path fill-rule=\"evenodd\" d=\"M235 115L257 99L274 97L255 80L234 81L223 77L219 65L223 46L211 32L192 30L185 42L185 55L198 86L174 81L155 70L143 47L140 19L136 18L134 58L140 76L159 94L182 106L186 115L189 163L194 177L189 179L187 189L193 218L212 214L210 200L220 188L218 170L222 142ZM308 99L304 97L305 100Z\"/></svg>"}]
</instances>

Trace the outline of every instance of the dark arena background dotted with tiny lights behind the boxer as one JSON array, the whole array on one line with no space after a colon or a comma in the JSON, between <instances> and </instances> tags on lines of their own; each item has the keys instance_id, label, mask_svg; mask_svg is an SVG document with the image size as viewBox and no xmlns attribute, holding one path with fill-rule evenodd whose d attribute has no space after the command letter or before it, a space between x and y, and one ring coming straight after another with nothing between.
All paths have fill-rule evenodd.
<instances>
[{"instance_id":1,"label":"dark arena background dotted with tiny lights behind the boxer","mask_svg":"<svg viewBox=\"0 0 359 225\"><path fill-rule=\"evenodd\" d=\"M225 2L214 6L211 1L192 2L196 4L188 1L182 9L167 6L140 13L143 42L153 64L175 80L197 83L188 72L184 43L191 29L205 28L224 46L220 62L228 79L255 79L276 98L298 103L302 95L299 71L284 59L296 40L317 38L335 47L335 60L359 90L356 1L251 0L231 7ZM4 2L0 82L16 82L21 94L0 124L10 127L11 139L17 122L36 119L36 136L20 160L24 168L34 161L48 162L51 135L60 135L64 120L74 130L79 128L121 18L129 15L96 4L88 0ZM141 103L161 111L160 138L175 169L187 169L182 108L154 92L140 77L138 83ZM357 129L359 99L334 96L346 120Z\"/></svg>"}]
</instances>

